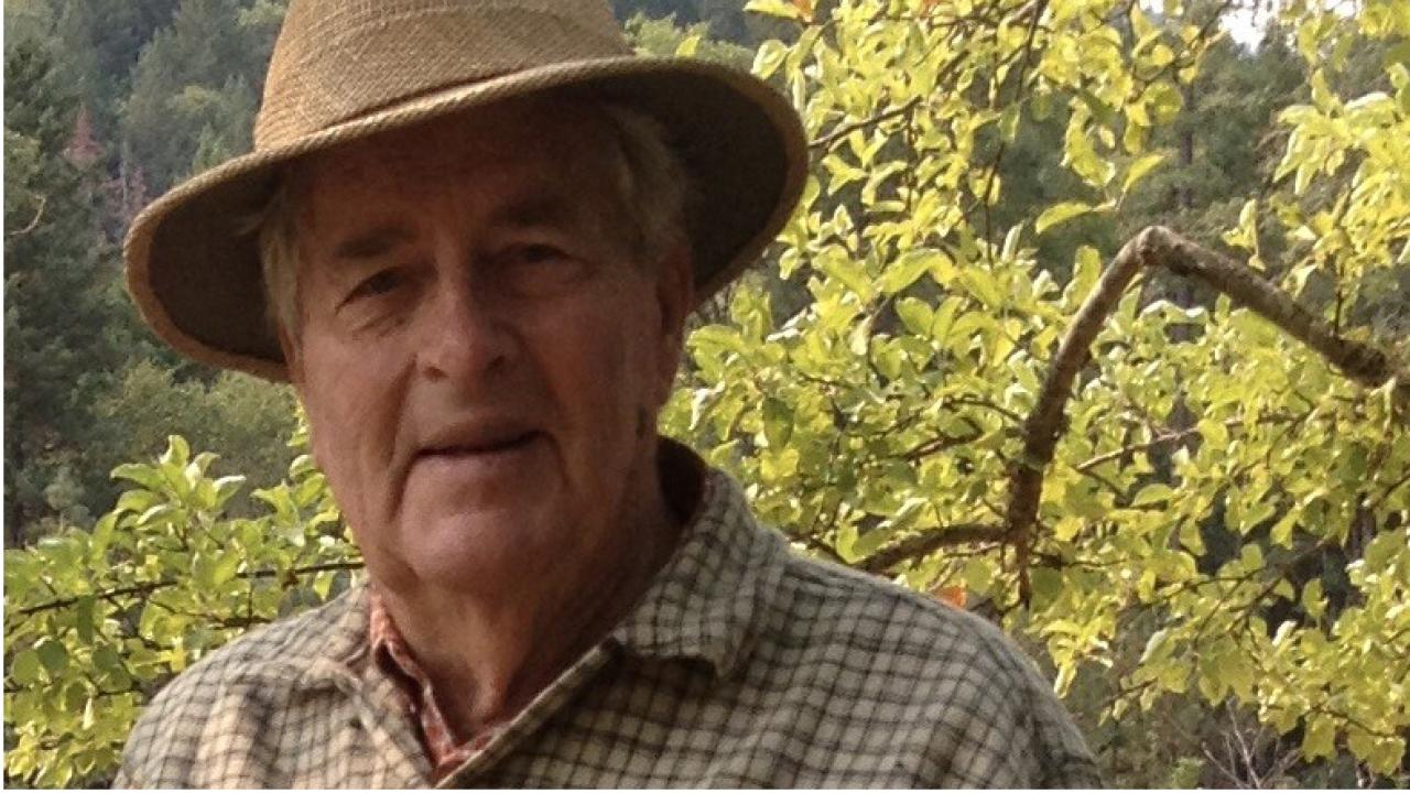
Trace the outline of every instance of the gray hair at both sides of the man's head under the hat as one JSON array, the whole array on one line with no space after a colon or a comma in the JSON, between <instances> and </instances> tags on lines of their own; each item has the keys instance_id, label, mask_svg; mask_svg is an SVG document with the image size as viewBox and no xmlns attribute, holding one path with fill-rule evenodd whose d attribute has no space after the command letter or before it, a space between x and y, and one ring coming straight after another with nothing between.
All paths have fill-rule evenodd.
<instances>
[{"instance_id":1,"label":"gray hair at both sides of the man's head under the hat","mask_svg":"<svg viewBox=\"0 0 1410 793\"><path fill-rule=\"evenodd\" d=\"M656 119L620 104L599 109L613 133L609 157L629 250L637 262L656 265L673 247L688 241L689 176ZM250 229L258 234L268 320L298 340L298 207L290 193L286 178L250 220Z\"/></svg>"}]
</instances>

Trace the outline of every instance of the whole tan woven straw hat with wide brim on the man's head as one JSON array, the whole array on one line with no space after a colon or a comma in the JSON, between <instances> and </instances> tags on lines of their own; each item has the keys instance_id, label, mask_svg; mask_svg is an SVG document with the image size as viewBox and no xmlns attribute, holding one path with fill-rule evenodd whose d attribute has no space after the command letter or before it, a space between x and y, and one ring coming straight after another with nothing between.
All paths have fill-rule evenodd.
<instances>
[{"instance_id":1,"label":"whole tan woven straw hat with wide brim on the man's head","mask_svg":"<svg viewBox=\"0 0 1410 793\"><path fill-rule=\"evenodd\" d=\"M605 0L293 0L269 61L252 154L185 182L127 234L148 325L207 364L288 380L247 219L312 151L546 90L656 117L694 178L704 301L778 233L807 145L788 102L713 63L632 54Z\"/></svg>"}]
</instances>

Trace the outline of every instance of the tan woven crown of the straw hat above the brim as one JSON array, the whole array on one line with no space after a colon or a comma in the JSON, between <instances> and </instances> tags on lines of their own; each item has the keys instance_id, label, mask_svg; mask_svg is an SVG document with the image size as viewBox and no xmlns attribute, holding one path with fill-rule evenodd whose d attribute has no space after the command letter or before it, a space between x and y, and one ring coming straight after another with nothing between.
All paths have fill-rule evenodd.
<instances>
[{"instance_id":1,"label":"tan woven crown of the straw hat above the brim","mask_svg":"<svg viewBox=\"0 0 1410 793\"><path fill-rule=\"evenodd\" d=\"M293 0L269 59L255 150L440 89L629 54L599 0Z\"/></svg>"}]
</instances>

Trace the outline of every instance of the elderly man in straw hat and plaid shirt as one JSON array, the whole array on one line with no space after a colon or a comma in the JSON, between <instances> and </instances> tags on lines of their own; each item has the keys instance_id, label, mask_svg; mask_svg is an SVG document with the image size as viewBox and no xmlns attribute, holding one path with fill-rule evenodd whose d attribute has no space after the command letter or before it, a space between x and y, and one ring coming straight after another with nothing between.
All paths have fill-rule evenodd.
<instances>
[{"instance_id":1,"label":"elderly man in straw hat and plaid shirt","mask_svg":"<svg viewBox=\"0 0 1410 793\"><path fill-rule=\"evenodd\" d=\"M367 581L149 706L120 785L1093 785L995 629L788 553L656 435L797 117L603 3L295 0L255 152L128 237L144 316L293 384Z\"/></svg>"}]
</instances>

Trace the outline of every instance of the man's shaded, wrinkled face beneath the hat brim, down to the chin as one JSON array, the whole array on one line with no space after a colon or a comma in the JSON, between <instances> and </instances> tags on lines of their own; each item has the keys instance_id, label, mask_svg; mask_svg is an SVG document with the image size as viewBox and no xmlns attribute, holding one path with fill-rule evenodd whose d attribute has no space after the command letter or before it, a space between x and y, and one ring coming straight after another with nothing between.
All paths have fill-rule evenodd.
<instances>
[{"instance_id":1,"label":"man's shaded, wrinkled face beneath the hat brim, down to the chin","mask_svg":"<svg viewBox=\"0 0 1410 793\"><path fill-rule=\"evenodd\" d=\"M689 302L627 248L612 131L510 104L307 164L290 374L372 576L575 580L632 542Z\"/></svg>"}]
</instances>

